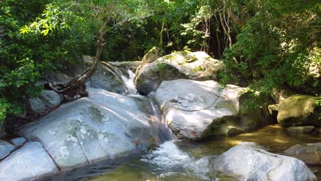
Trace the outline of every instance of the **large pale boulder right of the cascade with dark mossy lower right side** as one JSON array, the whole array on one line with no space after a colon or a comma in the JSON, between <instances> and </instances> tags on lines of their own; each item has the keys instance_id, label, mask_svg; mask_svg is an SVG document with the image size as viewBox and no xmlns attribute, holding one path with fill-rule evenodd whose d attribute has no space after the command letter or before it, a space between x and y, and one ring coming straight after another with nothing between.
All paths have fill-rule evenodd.
<instances>
[{"instance_id":1,"label":"large pale boulder right of the cascade with dark mossy lower right side","mask_svg":"<svg viewBox=\"0 0 321 181\"><path fill-rule=\"evenodd\" d=\"M172 80L162 82L153 99L176 136L195 140L228 136L272 123L268 105L241 111L248 97L245 90L234 85L222 88L212 80Z\"/></svg>"}]
</instances>

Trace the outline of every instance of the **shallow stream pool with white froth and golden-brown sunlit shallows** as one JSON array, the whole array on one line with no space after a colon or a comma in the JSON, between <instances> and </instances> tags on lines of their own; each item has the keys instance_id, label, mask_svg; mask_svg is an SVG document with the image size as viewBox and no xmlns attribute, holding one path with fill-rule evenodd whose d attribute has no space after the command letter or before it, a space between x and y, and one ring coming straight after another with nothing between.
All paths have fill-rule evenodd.
<instances>
[{"instance_id":1,"label":"shallow stream pool with white froth and golden-brown sunlit shallows","mask_svg":"<svg viewBox=\"0 0 321 181\"><path fill-rule=\"evenodd\" d=\"M241 142L253 141L281 153L300 143L317 143L319 135L286 132L278 125L202 143L169 141L140 156L129 156L62 173L49 180L236 180L211 171L211 160ZM310 167L321 180L321 167Z\"/></svg>"}]
</instances>

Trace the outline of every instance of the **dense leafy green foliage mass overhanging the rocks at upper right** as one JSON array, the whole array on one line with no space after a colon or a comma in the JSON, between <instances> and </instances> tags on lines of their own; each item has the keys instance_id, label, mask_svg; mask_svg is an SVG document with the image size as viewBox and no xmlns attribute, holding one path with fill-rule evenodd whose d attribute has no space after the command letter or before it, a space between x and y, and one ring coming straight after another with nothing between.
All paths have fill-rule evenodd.
<instances>
[{"instance_id":1,"label":"dense leafy green foliage mass overhanging the rocks at upper right","mask_svg":"<svg viewBox=\"0 0 321 181\"><path fill-rule=\"evenodd\" d=\"M264 93L281 84L302 85L311 60L316 59L312 50L320 51L318 1L257 3L261 8L246 21L237 42L226 51L222 82L243 79Z\"/></svg>"}]
</instances>

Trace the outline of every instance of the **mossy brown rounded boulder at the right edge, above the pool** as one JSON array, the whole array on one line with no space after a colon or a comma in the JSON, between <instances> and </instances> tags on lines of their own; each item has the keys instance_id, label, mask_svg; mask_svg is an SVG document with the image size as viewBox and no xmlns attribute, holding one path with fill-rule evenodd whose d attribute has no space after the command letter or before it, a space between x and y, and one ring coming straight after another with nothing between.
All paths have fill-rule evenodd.
<instances>
[{"instance_id":1,"label":"mossy brown rounded boulder at the right edge, above the pool","mask_svg":"<svg viewBox=\"0 0 321 181\"><path fill-rule=\"evenodd\" d=\"M291 125L321 125L321 108L316 105L318 97L292 95L278 104L278 123Z\"/></svg>"}]
</instances>

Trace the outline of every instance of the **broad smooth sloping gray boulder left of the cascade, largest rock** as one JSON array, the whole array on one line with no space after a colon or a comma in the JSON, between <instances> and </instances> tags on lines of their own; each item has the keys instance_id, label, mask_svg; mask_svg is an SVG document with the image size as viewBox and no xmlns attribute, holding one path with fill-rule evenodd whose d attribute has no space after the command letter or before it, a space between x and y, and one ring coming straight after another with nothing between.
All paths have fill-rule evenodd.
<instances>
[{"instance_id":1,"label":"broad smooth sloping gray boulder left of the cascade, largest rock","mask_svg":"<svg viewBox=\"0 0 321 181\"><path fill-rule=\"evenodd\" d=\"M88 93L19 132L43 143L61 170L125 156L171 138L150 99L95 88Z\"/></svg>"}]
</instances>

